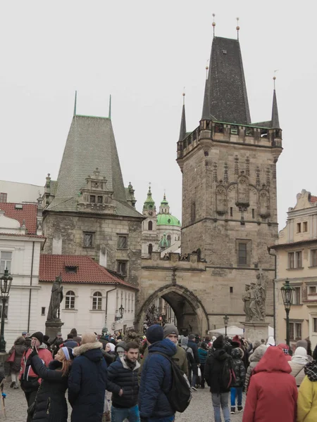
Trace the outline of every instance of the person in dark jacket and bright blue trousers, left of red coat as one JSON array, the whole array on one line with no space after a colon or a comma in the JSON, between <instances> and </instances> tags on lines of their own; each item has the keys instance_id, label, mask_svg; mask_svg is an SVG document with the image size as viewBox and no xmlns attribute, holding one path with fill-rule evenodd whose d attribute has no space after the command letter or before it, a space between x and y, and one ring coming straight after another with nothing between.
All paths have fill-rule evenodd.
<instances>
[{"instance_id":1,"label":"person in dark jacket and bright blue trousers, left of red coat","mask_svg":"<svg viewBox=\"0 0 317 422\"><path fill-rule=\"evenodd\" d=\"M242 388L245 382L245 366L242 362L244 352L240 347L231 351L233 369L235 371L235 381L230 388L231 392L231 414L235 414L235 400L237 398L237 410L242 411Z\"/></svg>"}]
</instances>

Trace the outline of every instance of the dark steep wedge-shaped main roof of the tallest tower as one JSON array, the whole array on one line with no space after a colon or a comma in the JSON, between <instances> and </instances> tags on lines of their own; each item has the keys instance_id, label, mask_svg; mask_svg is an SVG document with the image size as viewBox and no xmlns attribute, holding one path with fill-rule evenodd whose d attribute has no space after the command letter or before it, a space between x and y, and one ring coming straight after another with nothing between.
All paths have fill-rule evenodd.
<instances>
[{"instance_id":1,"label":"dark steep wedge-shaped main roof of the tallest tower","mask_svg":"<svg viewBox=\"0 0 317 422\"><path fill-rule=\"evenodd\" d=\"M239 41L213 38L206 87L209 91L210 114L216 120L251 123Z\"/></svg>"}]
</instances>

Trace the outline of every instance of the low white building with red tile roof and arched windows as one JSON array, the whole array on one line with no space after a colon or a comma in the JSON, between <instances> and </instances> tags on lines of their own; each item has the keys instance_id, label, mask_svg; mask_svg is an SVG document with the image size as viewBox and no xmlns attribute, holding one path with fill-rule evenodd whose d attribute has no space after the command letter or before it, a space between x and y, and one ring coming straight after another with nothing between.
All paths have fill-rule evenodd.
<instances>
[{"instance_id":1,"label":"low white building with red tile roof and arched windows","mask_svg":"<svg viewBox=\"0 0 317 422\"><path fill-rule=\"evenodd\" d=\"M64 295L60 308L63 338L72 328L76 328L79 335L85 331L101 334L105 325L111 333L133 328L137 288L110 274L91 257L82 255L41 255L39 328L45 329L51 286L60 274Z\"/></svg>"}]
</instances>

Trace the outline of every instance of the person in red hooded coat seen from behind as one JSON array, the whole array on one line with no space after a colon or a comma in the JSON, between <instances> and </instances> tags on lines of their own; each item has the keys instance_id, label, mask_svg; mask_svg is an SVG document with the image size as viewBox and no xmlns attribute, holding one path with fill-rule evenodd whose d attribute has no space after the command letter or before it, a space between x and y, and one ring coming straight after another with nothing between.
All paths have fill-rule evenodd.
<instances>
[{"instance_id":1,"label":"person in red hooded coat seen from behind","mask_svg":"<svg viewBox=\"0 0 317 422\"><path fill-rule=\"evenodd\" d=\"M297 386L280 347L268 347L250 378L242 422L295 422Z\"/></svg>"}]
</instances>

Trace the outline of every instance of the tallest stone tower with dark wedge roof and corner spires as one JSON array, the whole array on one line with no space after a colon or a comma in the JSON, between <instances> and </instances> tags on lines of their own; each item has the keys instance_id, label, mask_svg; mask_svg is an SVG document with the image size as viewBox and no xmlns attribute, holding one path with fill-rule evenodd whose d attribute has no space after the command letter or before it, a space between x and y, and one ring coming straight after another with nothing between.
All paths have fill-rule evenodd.
<instances>
[{"instance_id":1,"label":"tallest stone tower with dark wedge roof and corner spires","mask_svg":"<svg viewBox=\"0 0 317 422\"><path fill-rule=\"evenodd\" d=\"M256 281L259 267L273 279L267 247L278 235L281 152L275 89L271 120L251 123L240 43L213 37L201 120L188 134L183 106L177 161L182 253L200 249L218 281L225 282L229 273L231 281Z\"/></svg>"}]
</instances>

